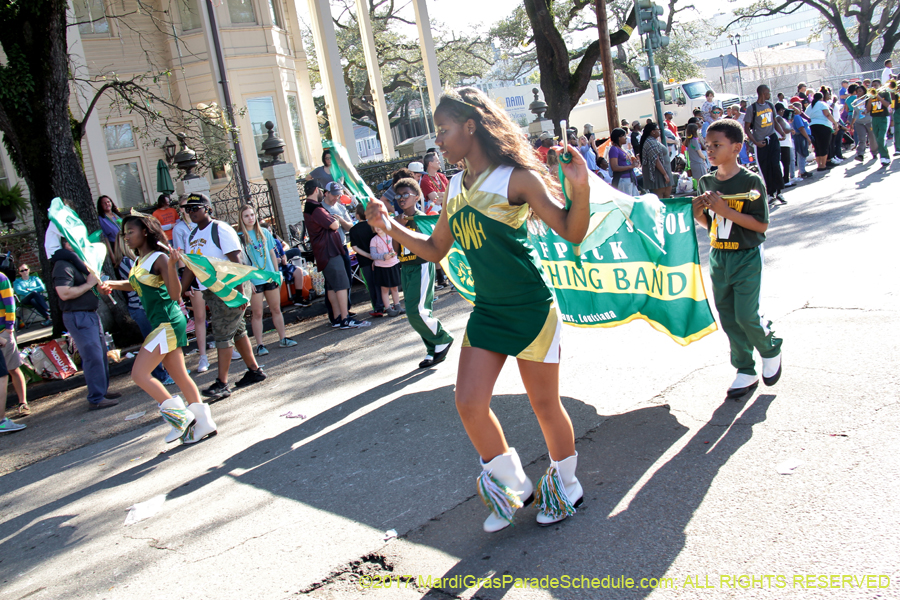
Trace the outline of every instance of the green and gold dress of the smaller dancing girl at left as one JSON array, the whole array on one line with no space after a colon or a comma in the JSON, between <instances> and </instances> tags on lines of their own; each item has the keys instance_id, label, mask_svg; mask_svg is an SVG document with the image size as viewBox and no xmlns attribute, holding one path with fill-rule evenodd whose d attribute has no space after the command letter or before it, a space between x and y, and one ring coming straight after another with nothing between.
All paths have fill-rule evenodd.
<instances>
[{"instance_id":1,"label":"green and gold dress of the smaller dancing girl at left","mask_svg":"<svg viewBox=\"0 0 900 600\"><path fill-rule=\"evenodd\" d=\"M153 327L142 347L149 352L159 347L161 354L168 354L175 348L187 346L187 319L169 296L163 278L150 271L160 256L162 252L139 257L128 273L128 281L140 297Z\"/></svg>"}]
</instances>

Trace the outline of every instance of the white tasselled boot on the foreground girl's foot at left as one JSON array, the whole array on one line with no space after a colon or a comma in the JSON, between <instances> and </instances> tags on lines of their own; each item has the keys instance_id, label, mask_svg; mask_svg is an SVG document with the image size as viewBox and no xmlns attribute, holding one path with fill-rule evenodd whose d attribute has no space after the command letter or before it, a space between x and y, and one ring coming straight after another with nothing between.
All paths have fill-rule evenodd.
<instances>
[{"instance_id":1,"label":"white tasselled boot on the foreground girl's foot at left","mask_svg":"<svg viewBox=\"0 0 900 600\"><path fill-rule=\"evenodd\" d=\"M491 514L484 520L484 530L488 533L508 527L513 515L534 500L534 485L522 469L522 461L515 448L506 454L495 456L490 462L481 463L481 475L475 482L478 495Z\"/></svg>"}]
</instances>

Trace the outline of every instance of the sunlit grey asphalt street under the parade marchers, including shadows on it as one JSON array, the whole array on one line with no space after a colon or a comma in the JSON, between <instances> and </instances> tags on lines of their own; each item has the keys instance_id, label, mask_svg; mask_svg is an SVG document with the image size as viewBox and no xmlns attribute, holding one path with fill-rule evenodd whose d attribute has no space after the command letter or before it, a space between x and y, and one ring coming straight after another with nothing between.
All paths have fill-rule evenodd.
<instances>
[{"instance_id":1,"label":"sunlit grey asphalt street under the parade marchers, including shadows on it","mask_svg":"<svg viewBox=\"0 0 900 600\"><path fill-rule=\"evenodd\" d=\"M219 435L197 446L167 447L130 382L99 413L61 395L0 438L0 600L900 598L898 171L847 161L773 210L784 375L745 402L724 400L721 331L683 348L643 322L565 329L585 504L563 523L529 507L482 532L453 402L469 308L442 292L443 365L416 368L403 318L292 325L301 344L269 334L269 379L212 405ZM537 480L514 361L493 408Z\"/></svg>"}]
</instances>

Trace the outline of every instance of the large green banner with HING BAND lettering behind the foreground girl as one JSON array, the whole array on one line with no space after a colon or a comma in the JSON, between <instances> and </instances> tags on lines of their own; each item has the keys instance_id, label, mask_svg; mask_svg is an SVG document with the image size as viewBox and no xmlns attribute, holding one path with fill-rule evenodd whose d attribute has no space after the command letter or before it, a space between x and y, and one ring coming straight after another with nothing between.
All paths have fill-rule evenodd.
<instances>
[{"instance_id":1,"label":"large green banner with HING BAND lettering behind the foreground girl","mask_svg":"<svg viewBox=\"0 0 900 600\"><path fill-rule=\"evenodd\" d=\"M549 228L529 233L563 322L615 327L643 319L683 346L715 331L700 273L691 199L660 201L648 195L634 199L629 208L626 218L615 214L618 208L592 204L592 222L596 213L605 214L594 228L592 247L585 251L582 245L580 255ZM427 234L437 220L419 216L416 224ZM611 234L602 232L617 220L620 225ZM459 293L474 302L474 281L462 248L454 243L441 265Z\"/></svg>"}]
</instances>

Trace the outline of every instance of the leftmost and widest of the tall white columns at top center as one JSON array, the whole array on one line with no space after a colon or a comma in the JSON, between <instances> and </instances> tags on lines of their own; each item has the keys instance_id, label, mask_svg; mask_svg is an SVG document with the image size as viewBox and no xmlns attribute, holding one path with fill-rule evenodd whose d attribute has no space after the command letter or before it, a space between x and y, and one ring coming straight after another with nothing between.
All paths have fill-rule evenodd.
<instances>
[{"instance_id":1,"label":"leftmost and widest of the tall white columns at top center","mask_svg":"<svg viewBox=\"0 0 900 600\"><path fill-rule=\"evenodd\" d=\"M300 2L301 0L294 0ZM309 0L310 20L316 58L319 62L319 77L325 88L325 105L328 107L328 124L331 137L346 148L353 164L359 162L356 151L356 137L353 135L353 121L350 118L350 100L344 87L341 55L337 48L337 37L328 0Z\"/></svg>"}]
</instances>

